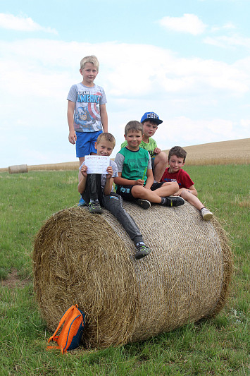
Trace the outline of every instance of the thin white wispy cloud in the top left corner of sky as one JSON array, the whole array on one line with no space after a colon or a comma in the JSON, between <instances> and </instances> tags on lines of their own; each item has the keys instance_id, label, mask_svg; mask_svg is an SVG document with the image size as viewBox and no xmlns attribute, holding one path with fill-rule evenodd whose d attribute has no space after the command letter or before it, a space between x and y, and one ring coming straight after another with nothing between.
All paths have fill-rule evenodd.
<instances>
[{"instance_id":1,"label":"thin white wispy cloud in the top left corner of sky","mask_svg":"<svg viewBox=\"0 0 250 376\"><path fill-rule=\"evenodd\" d=\"M0 28L27 32L43 31L57 34L56 30L44 28L38 23L35 23L30 17L23 15L13 16L13 14L8 13L0 13Z\"/></svg>"}]
</instances>

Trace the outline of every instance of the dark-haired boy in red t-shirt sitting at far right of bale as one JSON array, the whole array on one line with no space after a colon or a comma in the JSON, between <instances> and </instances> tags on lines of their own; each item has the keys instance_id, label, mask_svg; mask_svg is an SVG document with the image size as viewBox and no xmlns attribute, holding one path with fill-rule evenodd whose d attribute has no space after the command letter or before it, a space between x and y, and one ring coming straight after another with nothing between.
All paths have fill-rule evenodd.
<instances>
[{"instance_id":1,"label":"dark-haired boy in red t-shirt sitting at far right of bale","mask_svg":"<svg viewBox=\"0 0 250 376\"><path fill-rule=\"evenodd\" d=\"M190 204L194 205L194 207L201 212L205 221L209 221L213 217L213 213L206 209L199 198L197 198L197 191L194 188L194 182L191 180L189 174L182 170L186 156L187 152L182 149L182 147L172 147L168 152L169 167L165 169L161 181L177 181L180 189L174 193L174 196L180 196Z\"/></svg>"}]
</instances>

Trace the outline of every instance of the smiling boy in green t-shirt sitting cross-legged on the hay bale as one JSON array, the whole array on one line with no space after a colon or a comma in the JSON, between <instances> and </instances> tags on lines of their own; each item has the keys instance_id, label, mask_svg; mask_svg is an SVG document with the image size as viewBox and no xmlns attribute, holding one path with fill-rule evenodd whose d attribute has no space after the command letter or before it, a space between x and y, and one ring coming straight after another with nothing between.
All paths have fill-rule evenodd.
<instances>
[{"instance_id":1,"label":"smiling boy in green t-shirt sitting cross-legged on the hay bale","mask_svg":"<svg viewBox=\"0 0 250 376\"><path fill-rule=\"evenodd\" d=\"M129 121L125 126L123 147L115 157L118 166L116 193L125 200L135 201L144 209L151 207L151 202L165 206L180 206L185 203L180 197L168 197L179 189L176 182L154 183L149 152L139 145L142 142L143 128L139 121Z\"/></svg>"}]
</instances>

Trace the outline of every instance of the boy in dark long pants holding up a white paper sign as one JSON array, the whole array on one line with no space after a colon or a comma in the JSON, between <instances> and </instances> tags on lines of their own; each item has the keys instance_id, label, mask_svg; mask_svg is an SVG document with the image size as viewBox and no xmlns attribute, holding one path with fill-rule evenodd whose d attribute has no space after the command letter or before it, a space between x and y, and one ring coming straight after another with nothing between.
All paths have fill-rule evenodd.
<instances>
[{"instance_id":1,"label":"boy in dark long pants holding up a white paper sign","mask_svg":"<svg viewBox=\"0 0 250 376\"><path fill-rule=\"evenodd\" d=\"M115 138L111 133L101 133L96 140L95 147L97 150L96 159L98 157L109 157L115 147ZM137 252L135 253L136 260L149 255L151 250L145 245L137 224L123 209L123 199L120 195L113 192L113 179L115 176L118 176L115 162L110 160L110 165L108 165L106 171L102 171L102 174L100 174L100 171L98 174L89 174L88 170L90 168L92 171L98 171L94 167L94 158L91 163L92 165L89 165L89 168L87 166L87 159L81 164L78 184L79 193L81 193L85 202L89 202L89 212L101 214L101 205L106 207L118 219L118 222L120 222L135 243L137 248Z\"/></svg>"}]
</instances>

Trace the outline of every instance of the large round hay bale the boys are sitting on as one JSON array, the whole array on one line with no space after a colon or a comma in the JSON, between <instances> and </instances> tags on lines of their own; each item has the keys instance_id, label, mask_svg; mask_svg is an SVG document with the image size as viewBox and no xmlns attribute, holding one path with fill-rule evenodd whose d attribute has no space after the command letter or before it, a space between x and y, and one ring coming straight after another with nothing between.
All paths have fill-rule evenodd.
<instances>
[{"instance_id":1,"label":"large round hay bale the boys are sitting on","mask_svg":"<svg viewBox=\"0 0 250 376\"><path fill-rule=\"evenodd\" d=\"M71 207L39 230L33 270L37 301L51 331L77 303L87 314L89 347L126 344L175 329L223 308L232 257L217 220L187 202L143 210L125 202L152 252L135 245L111 213Z\"/></svg>"}]
</instances>

